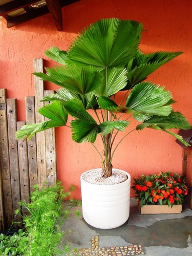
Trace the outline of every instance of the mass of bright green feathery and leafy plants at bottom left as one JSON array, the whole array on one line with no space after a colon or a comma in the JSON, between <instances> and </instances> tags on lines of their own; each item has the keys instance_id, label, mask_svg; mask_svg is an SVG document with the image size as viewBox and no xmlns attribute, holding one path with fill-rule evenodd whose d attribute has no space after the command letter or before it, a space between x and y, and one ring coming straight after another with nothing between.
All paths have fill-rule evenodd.
<instances>
[{"instance_id":1,"label":"mass of bright green feathery and leafy plants at bottom left","mask_svg":"<svg viewBox=\"0 0 192 256\"><path fill-rule=\"evenodd\" d=\"M63 223L68 217L71 207L81 203L71 198L70 191L75 187L72 185L69 191L65 191L59 182L54 187L42 187L40 190L38 185L34 187L31 203L20 202L20 209L16 210L16 214L19 214L20 210L25 209L25 231L20 229L13 236L0 234L0 255L41 256L69 252L69 243L66 241L63 241L62 250L57 247L65 235L60 231L61 221ZM79 212L76 211L75 215L79 216Z\"/></svg>"}]
</instances>

